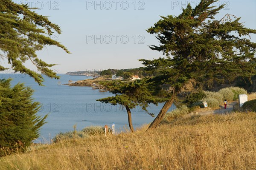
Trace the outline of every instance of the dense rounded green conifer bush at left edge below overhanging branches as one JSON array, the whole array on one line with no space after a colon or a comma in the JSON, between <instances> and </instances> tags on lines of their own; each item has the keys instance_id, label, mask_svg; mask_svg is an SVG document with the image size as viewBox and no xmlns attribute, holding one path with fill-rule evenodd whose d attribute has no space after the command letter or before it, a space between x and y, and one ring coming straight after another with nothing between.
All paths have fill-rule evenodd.
<instances>
[{"instance_id":1,"label":"dense rounded green conifer bush at left edge below overhanging branches","mask_svg":"<svg viewBox=\"0 0 256 170\"><path fill-rule=\"evenodd\" d=\"M10 82L11 79L0 79L0 148L25 150L39 137L47 116L36 115L40 105L33 102L30 87L20 83L11 87Z\"/></svg>"}]
</instances>

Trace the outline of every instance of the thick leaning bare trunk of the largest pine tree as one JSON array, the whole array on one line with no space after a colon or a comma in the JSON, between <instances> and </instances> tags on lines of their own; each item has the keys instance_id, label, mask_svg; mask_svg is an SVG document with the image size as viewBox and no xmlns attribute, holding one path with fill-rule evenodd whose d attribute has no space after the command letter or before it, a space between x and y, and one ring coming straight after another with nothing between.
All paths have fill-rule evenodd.
<instances>
[{"instance_id":1,"label":"thick leaning bare trunk of the largest pine tree","mask_svg":"<svg viewBox=\"0 0 256 170\"><path fill-rule=\"evenodd\" d=\"M154 129L157 127L157 125L160 124L160 122L163 120L163 117L165 116L166 112L172 106L174 98L175 98L175 96L173 96L172 99L165 102L165 104L163 105L163 108L158 113L157 117L154 119L154 121L151 123L151 125L148 127L147 130Z\"/></svg>"}]
</instances>

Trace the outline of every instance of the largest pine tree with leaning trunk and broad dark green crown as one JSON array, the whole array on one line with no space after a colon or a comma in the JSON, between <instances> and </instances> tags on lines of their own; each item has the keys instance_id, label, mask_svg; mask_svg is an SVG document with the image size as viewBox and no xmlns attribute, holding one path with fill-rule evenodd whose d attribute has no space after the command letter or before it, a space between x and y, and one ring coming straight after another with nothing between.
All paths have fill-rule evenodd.
<instances>
[{"instance_id":1,"label":"largest pine tree with leaning trunk and broad dark green crown","mask_svg":"<svg viewBox=\"0 0 256 170\"><path fill-rule=\"evenodd\" d=\"M220 20L215 15L224 5L212 6L217 0L201 0L194 9L188 4L179 16L162 17L151 28L160 45L151 45L152 50L161 51L166 57L140 59L157 76L151 79L158 85L169 85L169 97L151 123L155 128L171 107L175 96L184 84L194 79L201 86L212 82L231 82L236 77L250 78L256 74L256 43L250 34L256 30L245 28L240 18L226 14Z\"/></svg>"}]
</instances>

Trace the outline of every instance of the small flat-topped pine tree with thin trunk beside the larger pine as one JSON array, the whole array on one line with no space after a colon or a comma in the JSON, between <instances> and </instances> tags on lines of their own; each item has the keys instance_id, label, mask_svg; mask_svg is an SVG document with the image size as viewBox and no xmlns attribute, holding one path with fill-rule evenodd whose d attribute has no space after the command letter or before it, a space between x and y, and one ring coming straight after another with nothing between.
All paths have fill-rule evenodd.
<instances>
[{"instance_id":1,"label":"small flat-topped pine tree with thin trunk beside the larger pine","mask_svg":"<svg viewBox=\"0 0 256 170\"><path fill-rule=\"evenodd\" d=\"M131 120L131 109L140 106L146 113L151 116L154 114L147 111L149 103L157 105L158 102L163 102L164 99L153 96L153 91L150 88L150 83L147 83L147 79L135 80L135 81L110 81L101 82L102 85L111 89L110 92L115 96L97 99L96 101L111 103L112 105L123 105L128 114L128 124L131 132L134 132L134 128Z\"/></svg>"}]
</instances>

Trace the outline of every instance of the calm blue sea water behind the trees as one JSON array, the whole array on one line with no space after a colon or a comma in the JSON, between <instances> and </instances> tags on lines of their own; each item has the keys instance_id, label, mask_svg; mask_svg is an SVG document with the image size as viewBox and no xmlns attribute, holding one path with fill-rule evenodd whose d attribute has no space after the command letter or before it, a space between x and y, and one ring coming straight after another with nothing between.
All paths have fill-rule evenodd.
<instances>
[{"instance_id":1,"label":"calm blue sea water behind the trees","mask_svg":"<svg viewBox=\"0 0 256 170\"><path fill-rule=\"evenodd\" d=\"M39 86L34 79L25 74L0 74L0 78L12 78L12 85L18 82L31 86L35 93L34 101L41 103L41 111L38 115L48 115L47 123L41 127L41 139L44 142L55 136L56 133L73 130L73 125L77 130L91 125L108 125L115 122L116 131L120 132L128 127L128 117L125 108L120 105L113 106L97 102L96 99L111 96L109 92L99 92L91 87L77 87L63 85L69 80L77 81L82 79L91 79L86 76L70 76L59 74L61 79L45 78L45 86ZM58 85L58 81L61 85ZM150 105L150 113L158 113L163 104L158 106ZM171 111L174 107L170 108ZM134 127L150 123L154 120L140 108L132 110L132 122ZM41 139L38 142L42 142Z\"/></svg>"}]
</instances>

